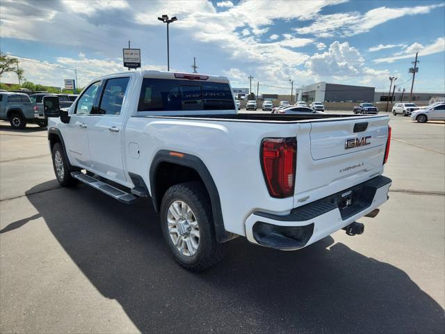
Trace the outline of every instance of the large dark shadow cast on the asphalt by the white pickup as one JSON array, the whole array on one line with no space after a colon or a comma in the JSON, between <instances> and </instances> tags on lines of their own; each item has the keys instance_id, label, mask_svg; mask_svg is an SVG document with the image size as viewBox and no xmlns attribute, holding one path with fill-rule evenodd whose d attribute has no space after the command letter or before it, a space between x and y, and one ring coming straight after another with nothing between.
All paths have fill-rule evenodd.
<instances>
[{"instance_id":1,"label":"large dark shadow cast on the asphalt by the white pickup","mask_svg":"<svg viewBox=\"0 0 445 334\"><path fill-rule=\"evenodd\" d=\"M443 331L444 310L404 271L332 237L298 252L238 238L217 267L191 273L172 260L149 200L127 206L86 186L33 192L74 263L143 333Z\"/></svg>"}]
</instances>

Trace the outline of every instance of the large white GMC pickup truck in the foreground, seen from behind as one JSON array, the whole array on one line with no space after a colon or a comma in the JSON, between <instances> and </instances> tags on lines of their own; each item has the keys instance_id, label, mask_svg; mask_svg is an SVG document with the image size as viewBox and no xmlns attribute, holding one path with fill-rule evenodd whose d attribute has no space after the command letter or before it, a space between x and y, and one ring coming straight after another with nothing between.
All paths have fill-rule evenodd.
<instances>
[{"instance_id":1,"label":"large white GMC pickup truck in the foreground, seen from behind","mask_svg":"<svg viewBox=\"0 0 445 334\"><path fill-rule=\"evenodd\" d=\"M100 77L68 111L45 99L58 182L151 198L187 269L238 236L297 250L361 234L388 198L388 116L238 114L225 77L157 71Z\"/></svg>"}]
</instances>

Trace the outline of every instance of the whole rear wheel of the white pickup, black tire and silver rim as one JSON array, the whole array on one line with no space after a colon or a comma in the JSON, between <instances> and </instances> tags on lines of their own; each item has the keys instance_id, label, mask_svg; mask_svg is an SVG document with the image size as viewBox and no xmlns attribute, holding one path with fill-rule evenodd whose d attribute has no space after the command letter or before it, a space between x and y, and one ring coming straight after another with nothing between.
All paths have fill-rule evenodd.
<instances>
[{"instance_id":1,"label":"whole rear wheel of the white pickup, black tire and silver rim","mask_svg":"<svg viewBox=\"0 0 445 334\"><path fill-rule=\"evenodd\" d=\"M186 269L202 271L223 259L209 196L200 182L175 184L165 192L161 228L173 257Z\"/></svg>"}]
</instances>

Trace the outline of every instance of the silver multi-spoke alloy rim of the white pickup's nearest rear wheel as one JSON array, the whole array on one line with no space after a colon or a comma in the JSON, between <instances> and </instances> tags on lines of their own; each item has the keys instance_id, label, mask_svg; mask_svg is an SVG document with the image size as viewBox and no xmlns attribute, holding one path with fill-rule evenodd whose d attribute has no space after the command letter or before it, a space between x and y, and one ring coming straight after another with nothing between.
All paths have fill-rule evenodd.
<instances>
[{"instance_id":1,"label":"silver multi-spoke alloy rim of the white pickup's nearest rear wheel","mask_svg":"<svg viewBox=\"0 0 445 334\"><path fill-rule=\"evenodd\" d=\"M176 249L185 256L193 256L200 245L200 226L186 202L175 200L168 208L168 233Z\"/></svg>"}]
</instances>

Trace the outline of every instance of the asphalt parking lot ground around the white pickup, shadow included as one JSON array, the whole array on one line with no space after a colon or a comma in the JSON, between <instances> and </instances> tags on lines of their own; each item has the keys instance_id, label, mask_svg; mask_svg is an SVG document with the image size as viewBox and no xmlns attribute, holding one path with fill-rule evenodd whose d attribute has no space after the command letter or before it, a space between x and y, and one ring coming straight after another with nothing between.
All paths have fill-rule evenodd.
<instances>
[{"instance_id":1,"label":"asphalt parking lot ground around the white pickup, shadow included","mask_svg":"<svg viewBox=\"0 0 445 334\"><path fill-rule=\"evenodd\" d=\"M204 273L172 260L149 200L60 188L46 130L0 122L1 333L443 333L445 122L390 117L390 199L364 234L238 238Z\"/></svg>"}]
</instances>

